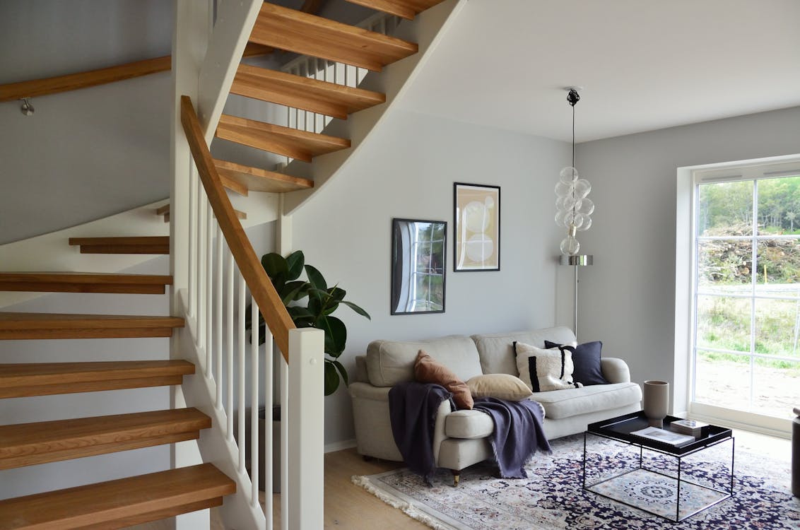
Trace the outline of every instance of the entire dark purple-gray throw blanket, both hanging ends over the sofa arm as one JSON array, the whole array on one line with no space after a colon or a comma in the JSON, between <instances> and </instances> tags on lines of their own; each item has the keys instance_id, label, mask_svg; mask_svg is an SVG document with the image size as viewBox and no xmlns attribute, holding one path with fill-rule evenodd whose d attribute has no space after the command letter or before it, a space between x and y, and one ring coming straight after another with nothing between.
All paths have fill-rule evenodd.
<instances>
[{"instance_id":1,"label":"entire dark purple-gray throw blanket, both hanging ends over the sofa arm","mask_svg":"<svg viewBox=\"0 0 800 530\"><path fill-rule=\"evenodd\" d=\"M429 484L436 470L433 451L436 411L442 401L451 396L440 385L422 383L401 383L389 391L394 442L409 469ZM526 460L537 450L550 452L538 404L486 397L475 400L474 408L486 412L494 420L489 440L502 478L526 477Z\"/></svg>"}]
</instances>

